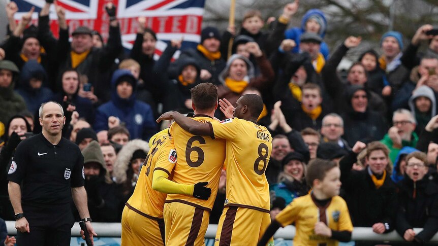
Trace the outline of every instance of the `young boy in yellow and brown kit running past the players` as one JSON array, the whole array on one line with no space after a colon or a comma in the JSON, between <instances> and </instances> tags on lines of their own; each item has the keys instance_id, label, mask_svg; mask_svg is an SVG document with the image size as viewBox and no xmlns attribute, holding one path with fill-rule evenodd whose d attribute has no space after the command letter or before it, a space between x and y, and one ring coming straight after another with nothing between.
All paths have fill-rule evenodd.
<instances>
[{"instance_id":1,"label":"young boy in yellow and brown kit running past the players","mask_svg":"<svg viewBox=\"0 0 438 246\"><path fill-rule=\"evenodd\" d=\"M353 225L347 203L338 196L340 170L336 163L315 159L307 167L308 195L295 198L268 227L258 246L265 245L279 227L295 222L294 245L336 246L351 240Z\"/></svg>"}]
</instances>

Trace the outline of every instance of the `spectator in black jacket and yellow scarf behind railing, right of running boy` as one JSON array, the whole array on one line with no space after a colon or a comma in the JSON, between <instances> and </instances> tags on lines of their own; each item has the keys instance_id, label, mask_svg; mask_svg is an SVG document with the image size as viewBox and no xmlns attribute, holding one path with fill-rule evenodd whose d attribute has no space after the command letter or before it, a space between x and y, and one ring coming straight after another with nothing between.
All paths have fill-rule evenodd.
<instances>
[{"instance_id":1,"label":"spectator in black jacket and yellow scarf behind railing, right of running boy","mask_svg":"<svg viewBox=\"0 0 438 246\"><path fill-rule=\"evenodd\" d=\"M340 162L342 189L353 225L372 227L378 234L390 232L395 226L397 194L390 173L386 171L388 155L384 144L372 142L366 148L368 166L365 169L352 170L354 161ZM357 243L360 246L374 244Z\"/></svg>"}]
</instances>

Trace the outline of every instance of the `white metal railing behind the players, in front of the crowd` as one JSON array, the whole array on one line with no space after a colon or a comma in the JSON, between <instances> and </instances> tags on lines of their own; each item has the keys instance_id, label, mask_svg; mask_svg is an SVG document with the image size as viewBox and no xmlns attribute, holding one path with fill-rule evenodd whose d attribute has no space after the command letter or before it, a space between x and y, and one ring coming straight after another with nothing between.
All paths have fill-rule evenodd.
<instances>
[{"instance_id":1,"label":"white metal railing behind the players, in front of the crowd","mask_svg":"<svg viewBox=\"0 0 438 246\"><path fill-rule=\"evenodd\" d=\"M121 225L120 223L92 223L93 228L100 237L120 237ZM6 227L8 228L9 235L15 235L17 230L15 229L15 221L6 221ZM217 225L208 225L205 238L214 238L216 235ZM414 228L416 233L420 232L422 228ZM80 227L78 223L72 228L72 236L80 236ZM293 239L295 235L295 227L287 226L280 228L275 233L274 238ZM355 227L353 230L353 241L403 241L397 232L392 231L387 234L377 234L372 231L370 227ZM433 236L430 242L438 242L438 233Z\"/></svg>"}]
</instances>

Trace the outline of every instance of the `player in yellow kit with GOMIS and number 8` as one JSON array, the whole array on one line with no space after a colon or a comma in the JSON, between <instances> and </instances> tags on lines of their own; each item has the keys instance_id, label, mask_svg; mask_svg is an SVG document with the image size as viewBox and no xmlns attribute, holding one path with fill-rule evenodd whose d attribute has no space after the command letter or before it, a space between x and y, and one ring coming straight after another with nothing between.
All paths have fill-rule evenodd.
<instances>
[{"instance_id":1,"label":"player in yellow kit with GOMIS and number 8","mask_svg":"<svg viewBox=\"0 0 438 246\"><path fill-rule=\"evenodd\" d=\"M221 122L200 123L176 112L163 114L183 129L227 140L227 191L215 245L256 245L270 223L269 187L265 177L272 137L257 124L263 100L247 94L236 102L234 117ZM273 245L270 239L268 245Z\"/></svg>"}]
</instances>

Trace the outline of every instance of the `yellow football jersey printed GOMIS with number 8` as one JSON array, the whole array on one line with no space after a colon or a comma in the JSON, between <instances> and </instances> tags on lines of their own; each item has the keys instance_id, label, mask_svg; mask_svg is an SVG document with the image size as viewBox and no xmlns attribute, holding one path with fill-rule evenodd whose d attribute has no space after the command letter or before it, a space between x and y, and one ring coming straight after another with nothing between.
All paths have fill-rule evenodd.
<instances>
[{"instance_id":1,"label":"yellow football jersey printed GOMIS with number 8","mask_svg":"<svg viewBox=\"0 0 438 246\"><path fill-rule=\"evenodd\" d=\"M266 127L238 118L212 121L212 135L227 140L225 205L269 213L269 185L265 170L272 152Z\"/></svg>"}]
</instances>

